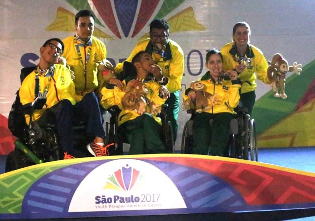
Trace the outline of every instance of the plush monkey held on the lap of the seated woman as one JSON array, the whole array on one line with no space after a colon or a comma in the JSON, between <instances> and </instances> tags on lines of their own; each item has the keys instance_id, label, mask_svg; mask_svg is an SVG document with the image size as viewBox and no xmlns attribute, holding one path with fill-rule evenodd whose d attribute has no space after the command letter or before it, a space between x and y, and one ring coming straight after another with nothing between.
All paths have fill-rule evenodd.
<instances>
[{"instance_id":1,"label":"plush monkey held on the lap of the seated woman","mask_svg":"<svg viewBox=\"0 0 315 221\"><path fill-rule=\"evenodd\" d=\"M191 81L190 88L196 93L196 100L192 102L188 99L184 104L186 110L195 109L196 112L208 111L217 103L217 95L206 92L205 85L201 81Z\"/></svg>"}]
</instances>

